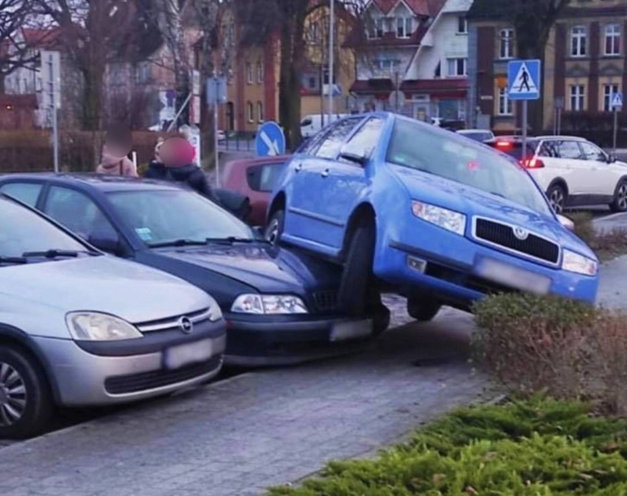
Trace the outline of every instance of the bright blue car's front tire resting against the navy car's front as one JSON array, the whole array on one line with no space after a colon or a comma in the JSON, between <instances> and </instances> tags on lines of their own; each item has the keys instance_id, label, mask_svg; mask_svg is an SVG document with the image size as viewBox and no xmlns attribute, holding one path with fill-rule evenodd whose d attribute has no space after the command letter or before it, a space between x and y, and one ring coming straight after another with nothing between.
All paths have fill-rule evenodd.
<instances>
[{"instance_id":1,"label":"bright blue car's front tire resting against the navy car's front","mask_svg":"<svg viewBox=\"0 0 627 496\"><path fill-rule=\"evenodd\" d=\"M372 290L369 286L372 283L374 236L374 226L362 224L348 241L337 299L340 310L350 316L362 316L366 312L369 291Z\"/></svg>"}]
</instances>

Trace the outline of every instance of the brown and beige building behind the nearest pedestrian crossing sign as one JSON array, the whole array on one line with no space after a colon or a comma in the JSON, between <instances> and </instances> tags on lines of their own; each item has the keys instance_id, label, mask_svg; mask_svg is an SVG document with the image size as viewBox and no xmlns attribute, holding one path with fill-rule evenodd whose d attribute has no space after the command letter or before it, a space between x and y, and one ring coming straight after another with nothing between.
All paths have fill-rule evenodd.
<instances>
[{"instance_id":1,"label":"brown and beige building behind the nearest pedestrian crossing sign","mask_svg":"<svg viewBox=\"0 0 627 496\"><path fill-rule=\"evenodd\" d=\"M497 132L518 132L520 103L508 98L507 63L517 57L507 4L475 0L470 21L472 120ZM627 1L572 0L551 29L544 52L542 127L551 130L556 106L566 114L599 117L611 111L614 93L627 85Z\"/></svg>"}]
</instances>

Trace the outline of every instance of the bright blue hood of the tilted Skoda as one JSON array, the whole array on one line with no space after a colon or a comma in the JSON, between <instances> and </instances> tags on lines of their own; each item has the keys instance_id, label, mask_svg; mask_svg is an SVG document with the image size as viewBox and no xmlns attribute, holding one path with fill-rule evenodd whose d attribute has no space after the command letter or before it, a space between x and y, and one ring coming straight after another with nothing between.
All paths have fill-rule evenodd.
<instances>
[{"instance_id":1,"label":"bright blue hood of the tilted Skoda","mask_svg":"<svg viewBox=\"0 0 627 496\"><path fill-rule=\"evenodd\" d=\"M520 225L556 241L562 247L596 259L594 252L581 239L562 227L551 215L434 174L401 165L391 164L390 167L413 200L461 212L468 219L479 215Z\"/></svg>"}]
</instances>

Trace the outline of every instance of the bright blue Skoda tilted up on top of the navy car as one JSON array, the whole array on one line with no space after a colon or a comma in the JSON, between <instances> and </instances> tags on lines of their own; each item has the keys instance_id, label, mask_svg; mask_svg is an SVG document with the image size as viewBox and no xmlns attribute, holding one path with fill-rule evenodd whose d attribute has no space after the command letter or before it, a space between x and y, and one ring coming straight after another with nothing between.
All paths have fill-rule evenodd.
<instances>
[{"instance_id":1,"label":"bright blue Skoda tilted up on top of the navy car","mask_svg":"<svg viewBox=\"0 0 627 496\"><path fill-rule=\"evenodd\" d=\"M342 264L339 302L408 297L419 320L443 304L531 291L596 299L598 259L519 163L391 113L350 116L293 155L266 236ZM374 278L374 279L373 279Z\"/></svg>"}]
</instances>

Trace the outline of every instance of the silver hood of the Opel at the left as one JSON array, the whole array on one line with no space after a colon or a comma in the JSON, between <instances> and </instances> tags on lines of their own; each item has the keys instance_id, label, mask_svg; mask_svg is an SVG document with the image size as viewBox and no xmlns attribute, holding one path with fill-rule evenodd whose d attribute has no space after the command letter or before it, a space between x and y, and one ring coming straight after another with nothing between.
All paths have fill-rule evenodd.
<instances>
[{"instance_id":1,"label":"silver hood of the Opel at the left","mask_svg":"<svg viewBox=\"0 0 627 496\"><path fill-rule=\"evenodd\" d=\"M112 256L0 268L0 296L19 313L93 310L140 323L198 311L211 298L177 277ZM21 303L20 303L21 302ZM3 308L4 307L4 308ZM0 319L7 306L0 304ZM23 329L29 332L29 329Z\"/></svg>"}]
</instances>

